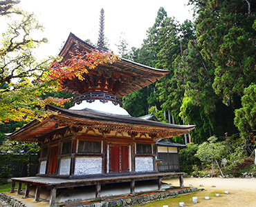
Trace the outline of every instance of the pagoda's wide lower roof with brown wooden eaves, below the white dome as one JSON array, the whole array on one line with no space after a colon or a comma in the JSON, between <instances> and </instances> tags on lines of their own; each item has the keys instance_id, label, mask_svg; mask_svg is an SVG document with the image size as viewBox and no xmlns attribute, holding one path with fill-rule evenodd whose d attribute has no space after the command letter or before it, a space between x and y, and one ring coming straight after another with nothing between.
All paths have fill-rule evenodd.
<instances>
[{"instance_id":1,"label":"pagoda's wide lower roof with brown wooden eaves, below the white dome","mask_svg":"<svg viewBox=\"0 0 256 207\"><path fill-rule=\"evenodd\" d=\"M125 132L141 132L154 135L153 139L163 139L188 133L194 125L183 126L149 121L125 115L113 115L95 110L68 110L47 105L46 109L57 112L57 115L34 120L26 126L8 135L11 139L20 141L38 141L39 137L60 130L61 128L101 128L102 130L118 130ZM56 128L57 124L57 128Z\"/></svg>"}]
</instances>

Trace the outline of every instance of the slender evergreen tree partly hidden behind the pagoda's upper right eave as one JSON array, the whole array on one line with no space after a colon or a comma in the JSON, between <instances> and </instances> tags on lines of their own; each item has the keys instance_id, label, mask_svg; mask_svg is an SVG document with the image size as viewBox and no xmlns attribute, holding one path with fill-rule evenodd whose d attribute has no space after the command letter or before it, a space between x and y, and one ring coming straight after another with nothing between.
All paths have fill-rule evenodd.
<instances>
[{"instance_id":1,"label":"slender evergreen tree partly hidden behind the pagoda's upper right eave","mask_svg":"<svg viewBox=\"0 0 256 207\"><path fill-rule=\"evenodd\" d=\"M167 12L165 12L164 8L159 8L156 21L152 28L147 30L147 38L143 40L141 48L131 48L130 59L146 66L156 67L156 60L158 59L157 54L161 50L161 46L158 44L159 30L164 27L166 19ZM138 92L134 92L132 95L127 95L122 99L124 107L135 117L146 115L149 112L150 106L160 107L156 99L156 90L155 83L153 83L147 88L142 88ZM139 108L142 107L141 110L138 110L136 106L131 107L129 103L131 100L134 101L133 104L141 103L141 105L138 106Z\"/></svg>"}]
</instances>

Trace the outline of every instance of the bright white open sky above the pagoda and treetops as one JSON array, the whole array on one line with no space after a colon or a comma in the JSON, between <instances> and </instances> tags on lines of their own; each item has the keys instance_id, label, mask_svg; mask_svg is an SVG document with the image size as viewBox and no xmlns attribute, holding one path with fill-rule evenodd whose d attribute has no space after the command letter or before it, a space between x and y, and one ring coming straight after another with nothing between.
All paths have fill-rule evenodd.
<instances>
[{"instance_id":1,"label":"bright white open sky above the pagoda and treetops","mask_svg":"<svg viewBox=\"0 0 256 207\"><path fill-rule=\"evenodd\" d=\"M101 8L104 9L104 35L109 48L117 53L120 37L129 47L141 46L160 7L180 23L192 20L192 10L185 6L187 3L188 0L21 0L19 6L34 12L37 20L44 24L43 35L49 42L36 50L37 57L43 58L58 55L70 32L82 40L97 43Z\"/></svg>"}]
</instances>

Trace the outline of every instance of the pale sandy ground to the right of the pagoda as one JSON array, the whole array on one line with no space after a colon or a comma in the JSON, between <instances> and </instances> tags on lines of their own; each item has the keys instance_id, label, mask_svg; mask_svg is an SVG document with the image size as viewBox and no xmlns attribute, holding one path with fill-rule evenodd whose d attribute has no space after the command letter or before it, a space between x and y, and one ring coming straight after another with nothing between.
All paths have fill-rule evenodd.
<instances>
[{"instance_id":1,"label":"pale sandy ground to the right of the pagoda","mask_svg":"<svg viewBox=\"0 0 256 207\"><path fill-rule=\"evenodd\" d=\"M169 180L173 186L179 185L178 179ZM203 187L200 187L203 184ZM194 186L197 188L204 188L205 191L192 194L198 197L198 204L187 204L195 207L199 206L256 206L256 179L224 179L224 178L184 178L185 186ZM212 187L212 186L216 187ZM225 191L229 191L229 194L225 194ZM219 193L220 197L216 197L215 193ZM205 196L209 196L210 200L205 200ZM180 201L182 201L180 197ZM179 205L179 203L178 203ZM170 205L172 206L172 205ZM169 206L169 207L170 207Z\"/></svg>"}]
</instances>

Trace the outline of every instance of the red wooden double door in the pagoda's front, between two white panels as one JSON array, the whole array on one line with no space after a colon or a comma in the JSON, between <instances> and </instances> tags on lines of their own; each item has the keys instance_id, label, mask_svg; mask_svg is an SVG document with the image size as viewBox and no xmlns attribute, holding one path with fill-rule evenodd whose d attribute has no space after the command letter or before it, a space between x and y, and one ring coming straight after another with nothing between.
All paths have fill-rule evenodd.
<instances>
[{"instance_id":1,"label":"red wooden double door in the pagoda's front, between two white panels","mask_svg":"<svg viewBox=\"0 0 256 207\"><path fill-rule=\"evenodd\" d=\"M129 145L111 144L110 172L129 172Z\"/></svg>"}]
</instances>

